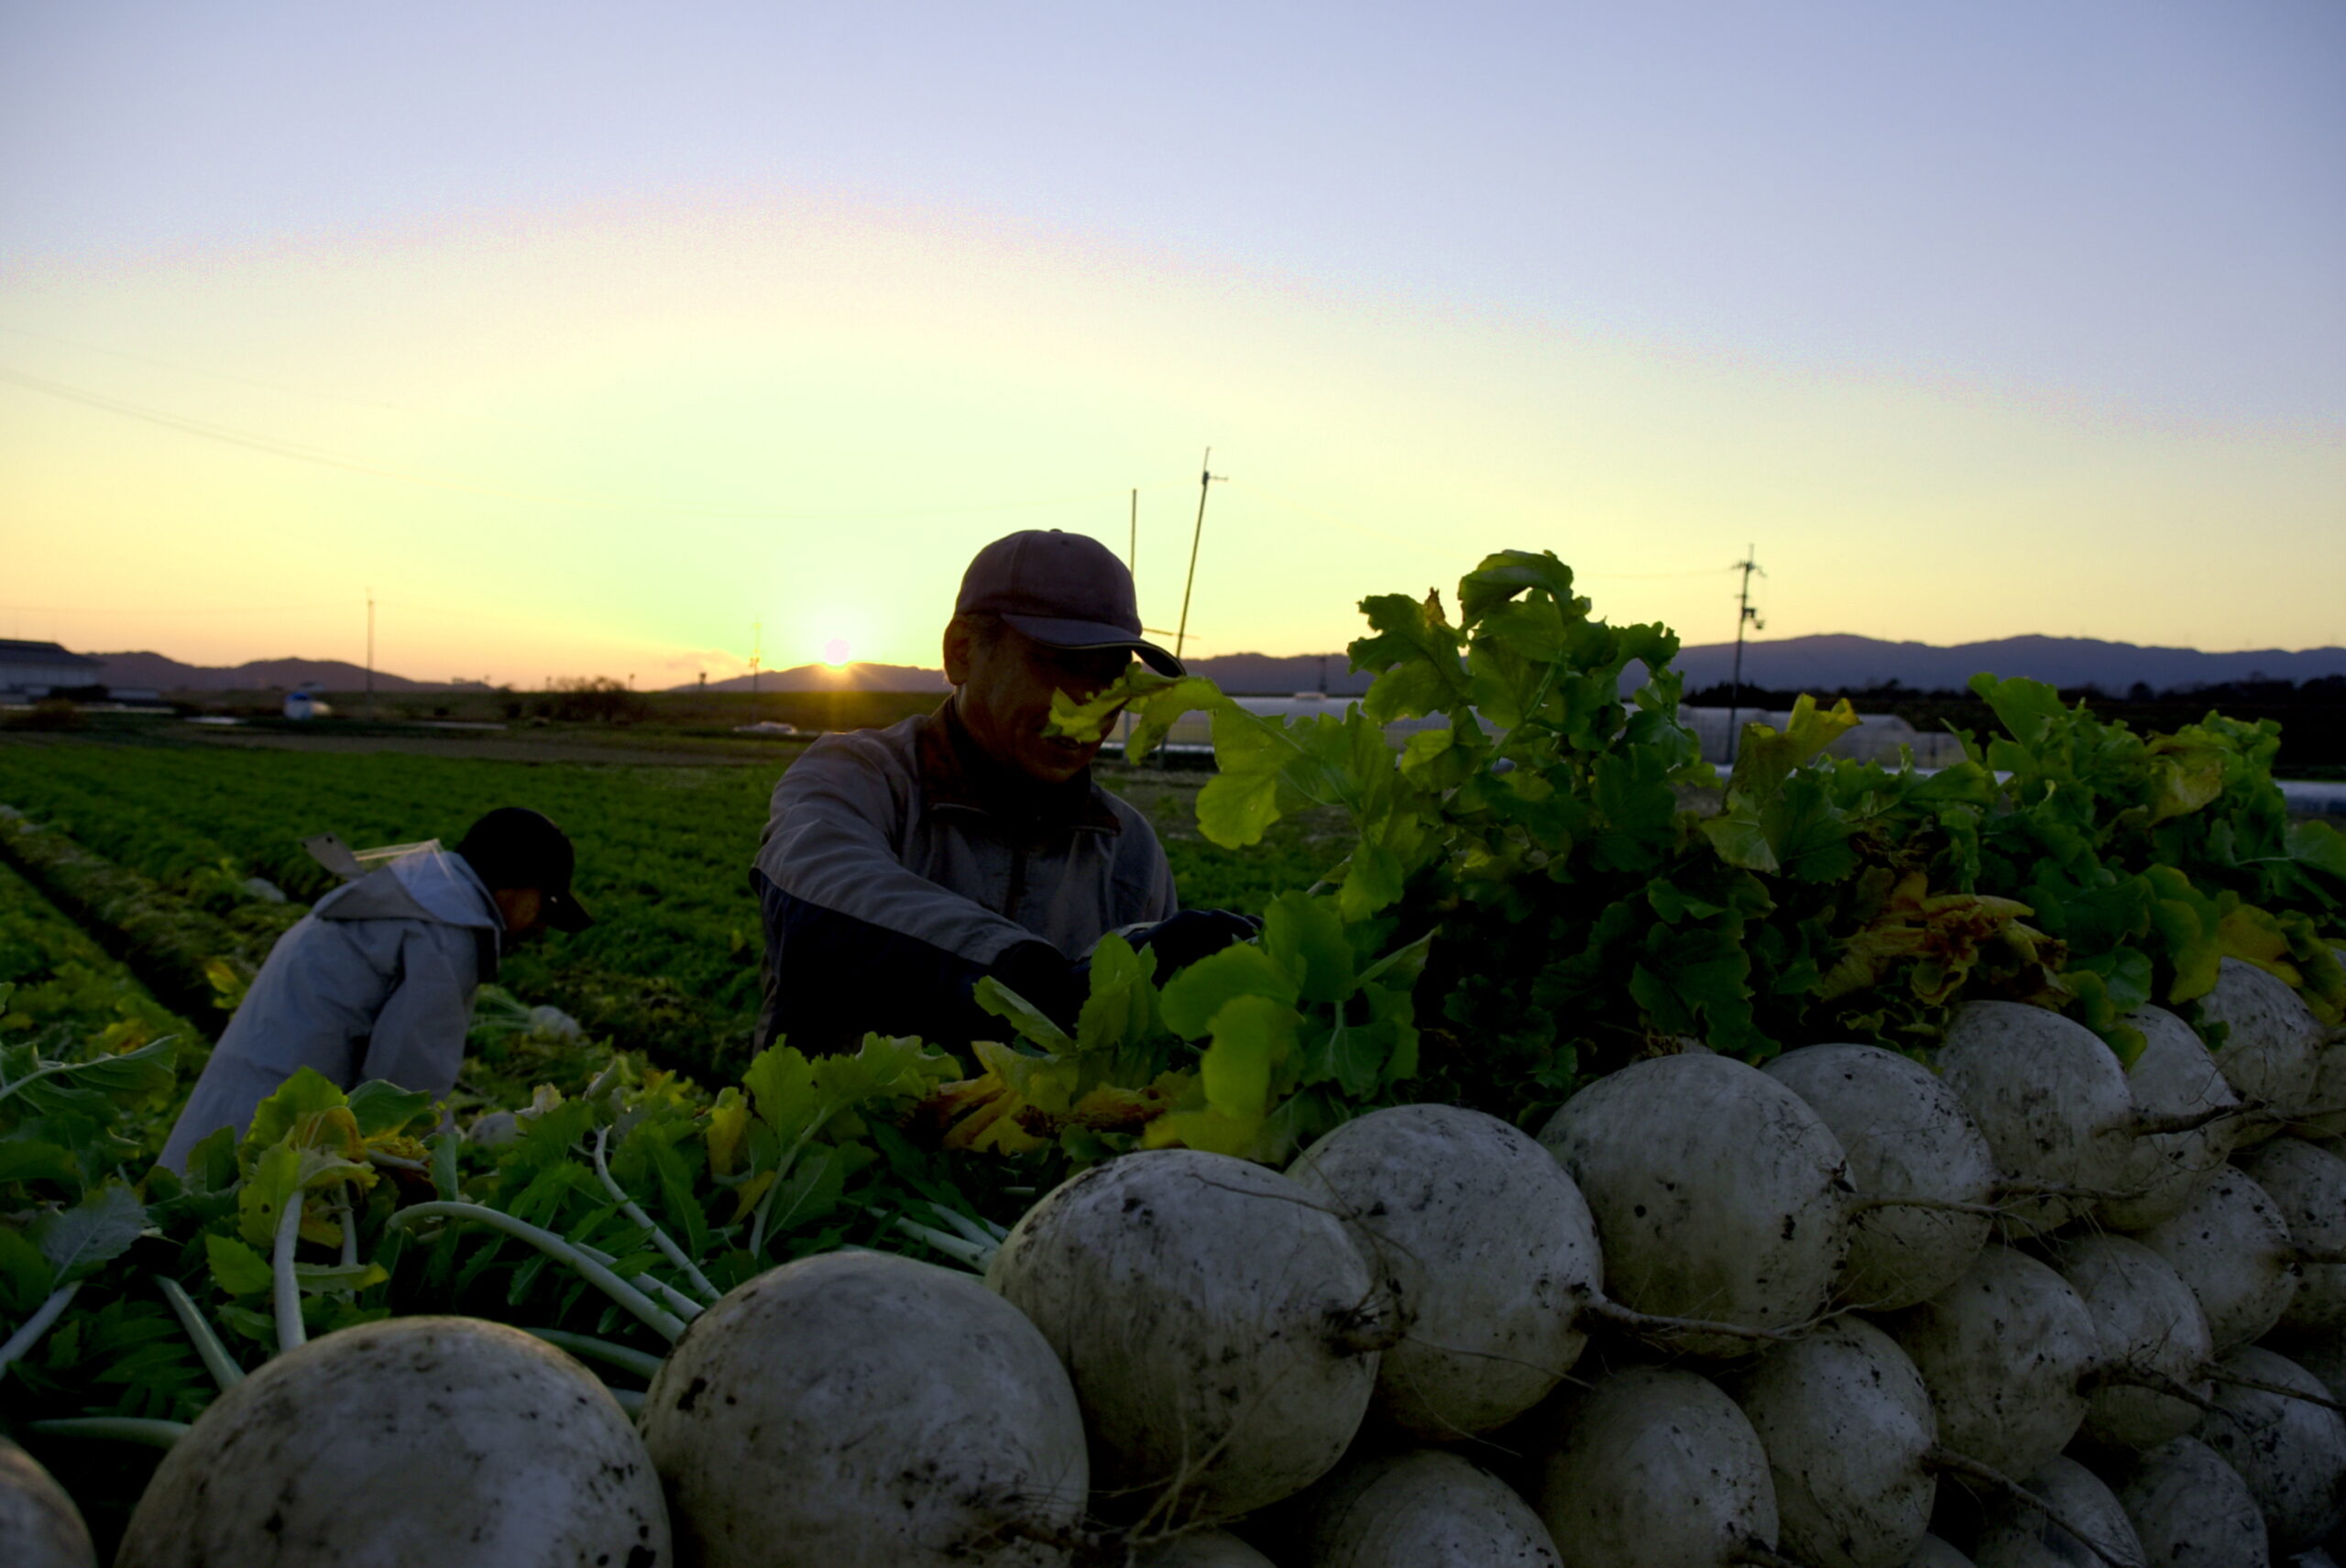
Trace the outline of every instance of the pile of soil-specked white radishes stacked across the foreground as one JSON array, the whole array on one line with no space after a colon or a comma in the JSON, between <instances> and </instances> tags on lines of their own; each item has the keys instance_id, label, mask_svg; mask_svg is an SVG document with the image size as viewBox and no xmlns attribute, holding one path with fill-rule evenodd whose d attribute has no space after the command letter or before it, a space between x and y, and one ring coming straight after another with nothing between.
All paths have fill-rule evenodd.
<instances>
[{"instance_id":1,"label":"pile of soil-specked white radishes stacked across the foreground","mask_svg":"<svg viewBox=\"0 0 2346 1568\"><path fill-rule=\"evenodd\" d=\"M2318 1096L2346 1089L2341 1045L2238 962L2196 1021L2133 1023L2130 1068L2060 1014L1973 1002L1928 1061L1652 1056L1537 1138L1394 1106L1286 1171L1121 1155L1042 1195L983 1282L847 1251L737 1286L638 1422L504 1329L350 1329L221 1397L120 1561L2337 1552L2346 1108ZM366 1514L366 1556L352 1521L378 1498L406 1512ZM47 1561L7 1519L0 1559Z\"/></svg>"}]
</instances>

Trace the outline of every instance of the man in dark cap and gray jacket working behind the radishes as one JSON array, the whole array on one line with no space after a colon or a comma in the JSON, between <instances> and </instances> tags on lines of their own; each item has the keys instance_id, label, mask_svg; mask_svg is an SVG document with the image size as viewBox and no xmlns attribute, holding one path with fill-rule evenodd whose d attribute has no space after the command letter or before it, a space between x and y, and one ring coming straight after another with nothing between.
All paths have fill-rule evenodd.
<instances>
[{"instance_id":1,"label":"man in dark cap and gray jacket working behind the radishes","mask_svg":"<svg viewBox=\"0 0 2346 1568\"><path fill-rule=\"evenodd\" d=\"M751 871L760 1049L992 1038L1004 1026L971 995L988 974L1072 1023L1107 932L1154 946L1159 976L1253 934L1243 915L1180 911L1157 833L1091 777L1100 742L1044 735L1051 692L1089 699L1133 655L1180 674L1140 636L1133 575L1105 545L1030 528L978 552L945 624L952 697L826 735L774 786Z\"/></svg>"}]
</instances>

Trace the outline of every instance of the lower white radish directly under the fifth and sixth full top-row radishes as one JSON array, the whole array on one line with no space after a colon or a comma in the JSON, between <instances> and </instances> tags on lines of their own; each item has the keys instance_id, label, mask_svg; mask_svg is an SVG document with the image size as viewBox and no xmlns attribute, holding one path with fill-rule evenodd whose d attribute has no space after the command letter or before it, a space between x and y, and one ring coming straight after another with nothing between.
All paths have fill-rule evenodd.
<instances>
[{"instance_id":1,"label":"lower white radish directly under the fifth and sixth full top-row radishes","mask_svg":"<svg viewBox=\"0 0 2346 1568\"><path fill-rule=\"evenodd\" d=\"M1767 1448L1785 1556L1900 1568L1931 1528L1938 1418L1898 1345L1839 1317L1724 1380Z\"/></svg>"}]
</instances>

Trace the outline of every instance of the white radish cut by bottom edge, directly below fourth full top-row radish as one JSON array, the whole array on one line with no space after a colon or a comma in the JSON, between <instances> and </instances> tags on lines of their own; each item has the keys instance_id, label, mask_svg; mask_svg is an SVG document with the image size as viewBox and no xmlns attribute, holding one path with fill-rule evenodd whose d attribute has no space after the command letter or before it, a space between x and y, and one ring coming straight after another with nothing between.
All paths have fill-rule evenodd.
<instances>
[{"instance_id":1,"label":"white radish cut by bottom edge, directly below fourth full top-row radish","mask_svg":"<svg viewBox=\"0 0 2346 1568\"><path fill-rule=\"evenodd\" d=\"M1295 1568L1560 1568L1523 1498L1438 1448L1349 1460L1295 1507Z\"/></svg>"}]
</instances>

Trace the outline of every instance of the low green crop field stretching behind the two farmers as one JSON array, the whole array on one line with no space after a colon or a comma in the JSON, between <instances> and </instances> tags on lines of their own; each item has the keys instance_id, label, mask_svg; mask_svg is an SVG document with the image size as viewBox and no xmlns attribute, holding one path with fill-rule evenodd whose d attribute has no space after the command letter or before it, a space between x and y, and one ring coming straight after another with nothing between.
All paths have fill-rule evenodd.
<instances>
[{"instance_id":1,"label":"low green crop field stretching behind the two farmers","mask_svg":"<svg viewBox=\"0 0 2346 1568\"><path fill-rule=\"evenodd\" d=\"M124 735L0 737L0 805L237 927L251 951L333 878L300 847L338 833L364 847L455 840L495 805L554 817L579 847L577 892L596 927L518 953L504 984L577 1014L594 1033L690 1070L746 1061L762 934L748 861L798 744L638 735L657 763L575 761L570 735L218 737L148 725ZM526 761L526 758L542 761ZM591 756L608 756L598 744ZM1157 824L1182 901L1260 911L1309 885L1340 850L1314 824L1262 847L1199 838L1199 772L1103 768ZM265 878L293 906L246 890ZM213 1028L218 1019L211 1021Z\"/></svg>"}]
</instances>

